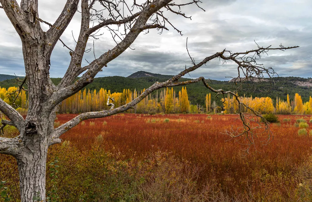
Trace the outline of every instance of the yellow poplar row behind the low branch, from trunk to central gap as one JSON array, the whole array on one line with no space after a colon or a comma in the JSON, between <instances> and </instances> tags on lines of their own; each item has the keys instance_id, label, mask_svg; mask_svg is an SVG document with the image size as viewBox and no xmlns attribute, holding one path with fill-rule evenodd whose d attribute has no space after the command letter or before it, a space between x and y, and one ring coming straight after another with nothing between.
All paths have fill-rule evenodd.
<instances>
[{"instance_id":1,"label":"yellow poplar row behind the low branch, from trunk to central gap","mask_svg":"<svg viewBox=\"0 0 312 202\"><path fill-rule=\"evenodd\" d=\"M145 89L144 89L145 90ZM122 93L111 93L110 90L101 88L99 91L83 90L64 100L60 106L59 113L80 113L90 111L107 110L110 107L106 105L108 96L115 99L115 107L119 107L136 99L139 94L143 93L136 90L131 91L124 89ZM110 101L111 102L111 101ZM188 100L186 87L176 92L173 88L159 90L150 94L138 103L131 112L135 113L188 113L191 105Z\"/></svg>"}]
</instances>

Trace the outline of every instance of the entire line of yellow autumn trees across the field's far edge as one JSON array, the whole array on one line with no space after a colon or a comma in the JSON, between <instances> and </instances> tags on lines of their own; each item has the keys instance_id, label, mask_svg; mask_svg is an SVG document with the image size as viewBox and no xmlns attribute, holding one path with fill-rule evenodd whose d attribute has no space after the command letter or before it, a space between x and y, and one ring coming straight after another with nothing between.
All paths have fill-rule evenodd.
<instances>
[{"instance_id":1,"label":"entire line of yellow autumn trees across the field's far edge","mask_svg":"<svg viewBox=\"0 0 312 202\"><path fill-rule=\"evenodd\" d=\"M145 90L145 89L144 89ZM106 105L108 96L114 97L115 107L119 107L136 99L141 92L136 90L124 89L122 93L111 93L110 90L101 88L99 91L83 90L77 94L64 100L59 109L59 113L80 113L90 111L101 111L109 109ZM0 98L6 103L12 105L13 100L17 96L17 88L10 87L7 90L0 87ZM301 96L296 93L294 100L282 100L276 98L275 106L273 100L269 97L241 97L240 102L255 109L260 113L276 113L276 114L312 114L312 98L309 102L303 103ZM238 102L234 96L230 94L227 98L222 99L224 113L236 113L238 111ZM25 91L22 91L15 101L16 108L27 109L28 101ZM217 105L211 103L211 94L206 95L206 112L211 112ZM242 112L250 112L244 106L240 106ZM178 96L173 88L159 90L154 94L150 94L138 103L134 109L130 110L135 113L197 113L200 106L191 105L188 100L186 87L178 92Z\"/></svg>"}]
</instances>

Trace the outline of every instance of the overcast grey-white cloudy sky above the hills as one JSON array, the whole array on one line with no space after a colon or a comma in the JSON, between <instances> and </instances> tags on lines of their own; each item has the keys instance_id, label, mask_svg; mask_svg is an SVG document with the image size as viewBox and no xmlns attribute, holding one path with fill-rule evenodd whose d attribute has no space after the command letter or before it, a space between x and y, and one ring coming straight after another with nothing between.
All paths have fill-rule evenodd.
<instances>
[{"instance_id":1,"label":"overcast grey-white cloudy sky above the hills","mask_svg":"<svg viewBox=\"0 0 312 202\"><path fill-rule=\"evenodd\" d=\"M128 1L128 0L126 0ZM60 14L65 0L39 0L39 17L53 23ZM132 0L129 2L132 2ZM189 2L180 0L175 2ZM279 76L312 77L312 1L311 0L214 0L205 1L201 6L182 9L192 20L168 14L171 23L183 36L169 25L169 31L157 34L140 34L131 48L104 67L97 77L129 76L136 71L149 71L160 74L177 74L185 65L192 66L186 51L188 49L195 62L203 60L224 48L233 52L255 49L260 46L278 47L300 46L293 50L270 51L260 63L272 67ZM0 9L0 74L25 75L22 44L3 9ZM42 25L47 30L46 25ZM74 49L80 29L80 13L76 13L67 30L61 36L66 45ZM95 56L99 57L115 46L111 35L103 28L100 39L95 40ZM93 47L89 39L88 47ZM90 62L93 51L85 54ZM70 61L69 50L58 42L51 56L50 77L62 77ZM83 65L87 64L86 62ZM218 59L210 61L190 73L192 78L204 76L206 79L229 80L226 76L237 76L235 64L223 64ZM188 76L190 77L190 76Z\"/></svg>"}]
</instances>

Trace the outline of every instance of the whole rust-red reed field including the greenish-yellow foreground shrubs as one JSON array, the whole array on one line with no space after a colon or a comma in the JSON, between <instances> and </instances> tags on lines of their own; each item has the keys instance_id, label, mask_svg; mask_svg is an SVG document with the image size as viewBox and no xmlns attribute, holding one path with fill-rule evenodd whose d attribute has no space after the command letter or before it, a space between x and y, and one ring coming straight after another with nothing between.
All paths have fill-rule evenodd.
<instances>
[{"instance_id":1,"label":"whole rust-red reed field including the greenish-yellow foreground shrubs","mask_svg":"<svg viewBox=\"0 0 312 202\"><path fill-rule=\"evenodd\" d=\"M58 115L55 127L73 117ZM310 119L280 115L270 124L271 143L248 155L224 134L241 126L236 115L86 120L50 148L47 193L56 201L311 201ZM6 134L17 131L7 127ZM18 201L14 158L0 154L0 180Z\"/></svg>"}]
</instances>

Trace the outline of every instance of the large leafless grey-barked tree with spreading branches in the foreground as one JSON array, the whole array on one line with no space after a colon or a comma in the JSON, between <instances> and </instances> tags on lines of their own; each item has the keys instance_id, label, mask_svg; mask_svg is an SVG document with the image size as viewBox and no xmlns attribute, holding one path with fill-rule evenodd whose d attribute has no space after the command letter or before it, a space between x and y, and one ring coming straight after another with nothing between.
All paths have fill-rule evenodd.
<instances>
[{"instance_id":1,"label":"large leafless grey-barked tree with spreading branches in the foreground","mask_svg":"<svg viewBox=\"0 0 312 202\"><path fill-rule=\"evenodd\" d=\"M110 103L114 100L111 99L110 101L109 98L110 110L82 113L65 124L54 128L53 123L59 104L91 83L102 67L106 67L110 61L128 49L141 32L148 33L150 29L157 29L161 33L163 30L168 30L166 26L169 25L181 33L168 20L166 15L168 15L168 12L173 12L178 16L190 18L181 9L191 4L202 9L199 5L200 1L188 0L183 4L177 4L172 0L146 0L144 3L137 3L134 0L130 5L130 1L124 0L81 0L79 6L81 27L74 50L66 46L60 37L78 11L79 0L67 0L63 11L53 24L39 18L38 0L22 0L20 5L16 0L0 0L0 2L0 8L5 11L21 38L27 77L26 83L28 85L29 108L25 119L12 106L0 99L0 111L10 119L9 121L2 120L2 125L15 126L20 133L15 138L0 137L0 154L12 155L17 160L22 202L32 201L35 195L38 195L42 201L46 201L46 157L48 148L53 144L61 143L60 136L79 122L124 112L133 108L154 90L188 85L200 81L209 90L217 94L232 94L239 105L244 105L240 103L235 91L215 90L207 84L203 77L183 82L178 80L214 58L222 59L224 62L235 62L238 66L239 79L245 78L248 80L250 76L261 78L265 74L271 76L275 72L271 68L265 68L257 64L256 59L269 50L285 50L297 47L284 47L281 45L277 48L263 48L258 46L255 50L241 53L232 53L224 49L207 56L199 63L195 63L191 57L192 67L185 67L185 70L165 82L154 83L130 103L114 108L114 104ZM99 23L90 26L92 25L91 22L95 20L99 21ZM49 25L50 28L43 31L41 23ZM97 39L101 35L98 34L100 28L110 30L116 46L102 53L89 65L81 67L84 53L88 51L86 50L88 39ZM58 40L70 49L71 61L66 74L59 85L56 86L49 78L49 71L50 56ZM82 73L84 74L75 81L77 76ZM248 108L248 106L245 107ZM250 110L252 109L250 108ZM256 116L261 117L259 113L253 112ZM252 143L254 127L240 111L238 114L243 122L243 127L240 131L232 132L230 135L232 137L244 136ZM266 122L265 126L267 126Z\"/></svg>"}]
</instances>

